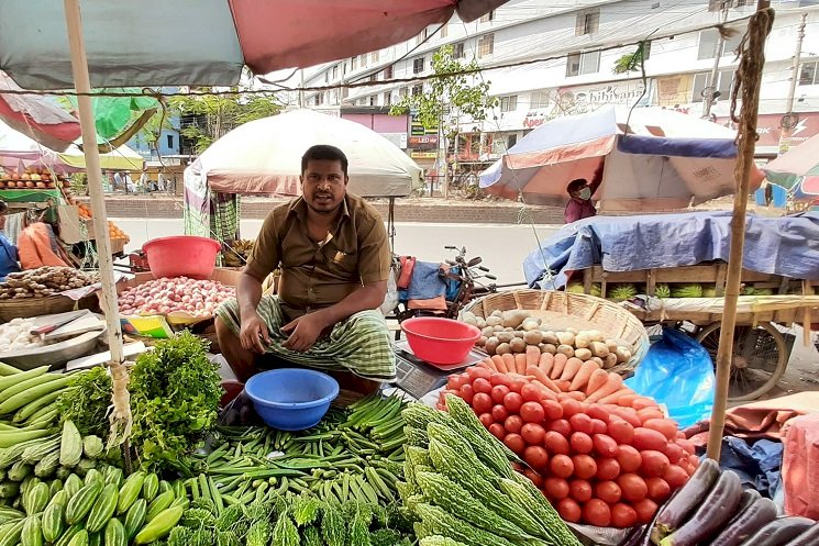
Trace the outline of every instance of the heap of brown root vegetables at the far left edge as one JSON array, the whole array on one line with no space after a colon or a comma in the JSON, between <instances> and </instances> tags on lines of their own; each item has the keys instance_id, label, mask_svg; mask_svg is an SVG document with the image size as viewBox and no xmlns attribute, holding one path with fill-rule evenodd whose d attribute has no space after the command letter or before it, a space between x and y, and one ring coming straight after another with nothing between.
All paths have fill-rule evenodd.
<instances>
[{"instance_id":1,"label":"heap of brown root vegetables at the far left edge","mask_svg":"<svg viewBox=\"0 0 819 546\"><path fill-rule=\"evenodd\" d=\"M73 267L44 266L27 271L9 274L0 283L0 300L42 298L93 285L97 272L86 272Z\"/></svg>"}]
</instances>

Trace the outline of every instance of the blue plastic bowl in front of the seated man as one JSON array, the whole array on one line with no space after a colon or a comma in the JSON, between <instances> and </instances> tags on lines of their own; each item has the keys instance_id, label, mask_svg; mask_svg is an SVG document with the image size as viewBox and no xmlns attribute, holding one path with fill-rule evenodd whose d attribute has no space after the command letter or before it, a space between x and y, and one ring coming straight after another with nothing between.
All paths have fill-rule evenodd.
<instances>
[{"instance_id":1,"label":"blue plastic bowl in front of the seated man","mask_svg":"<svg viewBox=\"0 0 819 546\"><path fill-rule=\"evenodd\" d=\"M253 376L244 390L268 426L303 431L319 424L339 395L339 382L321 371L280 368Z\"/></svg>"}]
</instances>

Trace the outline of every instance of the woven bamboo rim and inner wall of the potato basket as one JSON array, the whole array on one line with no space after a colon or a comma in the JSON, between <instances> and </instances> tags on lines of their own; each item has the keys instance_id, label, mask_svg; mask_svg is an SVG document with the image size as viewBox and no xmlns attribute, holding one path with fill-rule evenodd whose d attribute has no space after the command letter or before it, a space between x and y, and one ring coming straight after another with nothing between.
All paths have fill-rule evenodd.
<instances>
[{"instance_id":1,"label":"woven bamboo rim and inner wall of the potato basket","mask_svg":"<svg viewBox=\"0 0 819 546\"><path fill-rule=\"evenodd\" d=\"M489 316L492 311L529 311L532 316L553 330L599 330L607 338L621 339L633 348L631 360L619 364L609 371L628 372L643 359L649 350L649 334L633 314L620 305L584 293L550 290L510 290L486 296L469 302L464 311Z\"/></svg>"}]
</instances>

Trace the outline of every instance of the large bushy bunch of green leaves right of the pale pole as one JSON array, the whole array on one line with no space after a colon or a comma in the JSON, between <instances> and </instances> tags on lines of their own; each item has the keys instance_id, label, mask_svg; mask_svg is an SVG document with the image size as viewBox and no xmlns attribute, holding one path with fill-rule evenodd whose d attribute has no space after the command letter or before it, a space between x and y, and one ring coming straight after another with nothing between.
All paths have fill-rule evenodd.
<instances>
[{"instance_id":1,"label":"large bushy bunch of green leaves right of the pale pole","mask_svg":"<svg viewBox=\"0 0 819 546\"><path fill-rule=\"evenodd\" d=\"M207 350L207 342L186 331L136 359L131 444L144 468L174 468L215 424L222 387Z\"/></svg>"}]
</instances>

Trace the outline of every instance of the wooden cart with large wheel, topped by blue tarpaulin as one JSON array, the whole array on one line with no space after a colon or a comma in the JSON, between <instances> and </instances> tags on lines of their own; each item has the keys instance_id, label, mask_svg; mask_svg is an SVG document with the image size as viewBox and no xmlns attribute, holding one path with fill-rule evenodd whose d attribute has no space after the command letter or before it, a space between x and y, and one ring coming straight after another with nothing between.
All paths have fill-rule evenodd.
<instances>
[{"instance_id":1,"label":"wooden cart with large wheel, topped by blue tarpaulin","mask_svg":"<svg viewBox=\"0 0 819 546\"><path fill-rule=\"evenodd\" d=\"M544 289L616 301L656 297L626 307L646 324L684 325L716 361L730 220L723 212L587 219L544 242L523 268L528 282ZM794 343L783 326L801 324L809 343L819 316L817 241L817 213L749 218L731 400L753 400L776 385Z\"/></svg>"}]
</instances>

